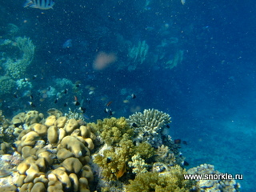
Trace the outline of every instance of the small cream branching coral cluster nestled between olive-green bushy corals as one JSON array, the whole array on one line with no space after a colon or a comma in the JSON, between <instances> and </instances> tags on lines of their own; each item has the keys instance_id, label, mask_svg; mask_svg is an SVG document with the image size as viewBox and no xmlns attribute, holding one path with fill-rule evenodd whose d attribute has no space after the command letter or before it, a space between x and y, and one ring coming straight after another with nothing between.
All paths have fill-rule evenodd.
<instances>
[{"instance_id":1,"label":"small cream branching coral cluster nestled between olive-green bushy corals","mask_svg":"<svg viewBox=\"0 0 256 192\"><path fill-rule=\"evenodd\" d=\"M133 168L133 173L134 174L139 174L139 173L146 173L146 167L149 165L146 164L143 158L139 154L134 154L134 156L131 158L132 162L128 162L128 165Z\"/></svg>"}]
</instances>

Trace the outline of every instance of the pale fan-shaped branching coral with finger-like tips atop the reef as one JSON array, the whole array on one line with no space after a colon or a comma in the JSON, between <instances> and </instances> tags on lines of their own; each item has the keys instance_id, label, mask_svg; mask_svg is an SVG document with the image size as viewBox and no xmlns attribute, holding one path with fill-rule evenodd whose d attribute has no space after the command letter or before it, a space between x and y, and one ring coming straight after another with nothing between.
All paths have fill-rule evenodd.
<instances>
[{"instance_id":1,"label":"pale fan-shaped branching coral with finger-like tips atop the reef","mask_svg":"<svg viewBox=\"0 0 256 192\"><path fill-rule=\"evenodd\" d=\"M149 142L151 146L162 145L162 133L170 123L170 115L159 110L144 110L130 115L127 122L134 126L138 142Z\"/></svg>"}]
</instances>

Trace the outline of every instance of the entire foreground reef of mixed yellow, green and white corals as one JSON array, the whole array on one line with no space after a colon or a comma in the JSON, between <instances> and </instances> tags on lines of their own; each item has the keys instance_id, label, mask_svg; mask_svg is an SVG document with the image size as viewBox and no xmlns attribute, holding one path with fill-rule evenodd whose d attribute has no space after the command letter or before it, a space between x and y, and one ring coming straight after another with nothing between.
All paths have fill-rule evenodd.
<instances>
[{"instance_id":1,"label":"entire foreground reef of mixed yellow, green and white corals","mask_svg":"<svg viewBox=\"0 0 256 192\"><path fill-rule=\"evenodd\" d=\"M162 111L97 123L72 111L48 114L1 114L1 139L9 141L0 146L1 191L238 191L233 179L184 179L219 172L207 164L184 169L179 144L163 131L170 115Z\"/></svg>"}]
</instances>

